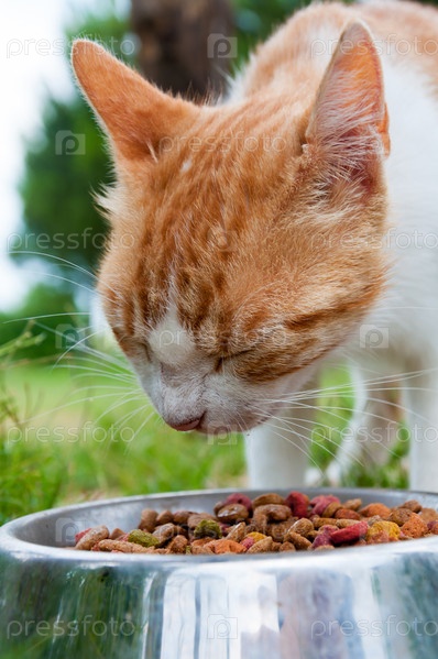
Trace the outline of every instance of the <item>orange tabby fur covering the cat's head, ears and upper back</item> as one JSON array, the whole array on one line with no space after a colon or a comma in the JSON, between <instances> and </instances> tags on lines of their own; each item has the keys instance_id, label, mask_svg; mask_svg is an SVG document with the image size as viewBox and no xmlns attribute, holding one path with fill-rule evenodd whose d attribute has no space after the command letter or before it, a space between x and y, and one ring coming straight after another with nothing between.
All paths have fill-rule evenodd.
<instances>
[{"instance_id":1,"label":"orange tabby fur covering the cat's head, ears and upper back","mask_svg":"<svg viewBox=\"0 0 438 659\"><path fill-rule=\"evenodd\" d=\"M172 297L218 369L237 355L239 377L265 382L340 344L379 298L388 121L362 20L382 39L398 31L412 41L437 12L409 3L398 15L338 3L298 12L258 50L241 100L218 107L172 99L98 46L75 45L118 166L102 201L112 237L100 290L128 355ZM321 25L352 41L328 68L330 58L309 51ZM436 84L431 63L421 66Z\"/></svg>"}]
</instances>

